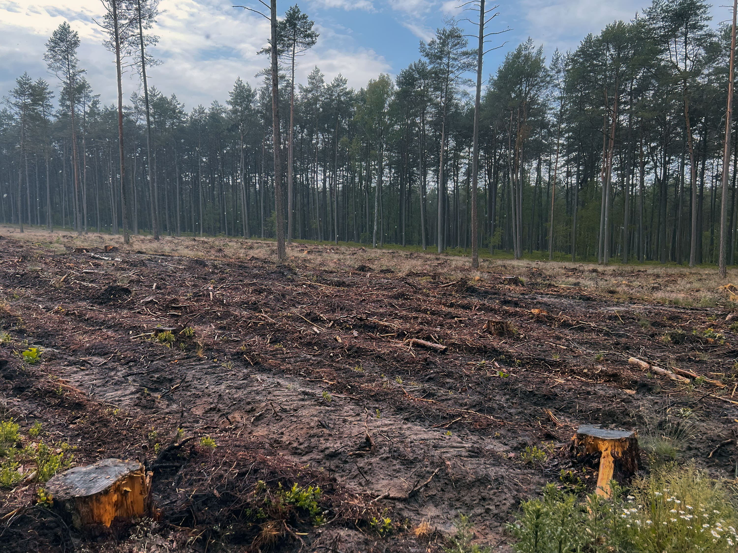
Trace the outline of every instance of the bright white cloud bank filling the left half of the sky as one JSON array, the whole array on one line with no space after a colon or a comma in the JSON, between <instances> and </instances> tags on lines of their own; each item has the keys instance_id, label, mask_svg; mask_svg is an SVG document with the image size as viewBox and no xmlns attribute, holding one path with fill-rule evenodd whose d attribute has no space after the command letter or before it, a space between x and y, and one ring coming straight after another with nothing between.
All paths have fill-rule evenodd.
<instances>
[{"instance_id":1,"label":"bright white cloud bank filling the left half of the sky","mask_svg":"<svg viewBox=\"0 0 738 553\"><path fill-rule=\"evenodd\" d=\"M348 0L322 0L339 4ZM358 0L354 4L371 4ZM259 15L235 9L230 1L162 0L154 32L159 44L151 49L162 64L148 71L149 82L164 94L176 94L187 108L224 102L236 77L261 84L255 74L269 61L256 52L266 45L269 22ZM365 8L364 8L365 9ZM87 70L92 88L101 100L116 97L114 58L102 46L100 29L92 18L102 16L99 0L0 0L0 97L13 87L15 77L28 71L33 78L44 77L57 87L44 63L45 42L61 22L69 20L80 34L80 66ZM350 32L336 27L320 27L317 46L300 60L298 80L317 65L327 79L342 73L350 86L365 86L390 64L371 49L358 49ZM140 88L137 74L124 77L125 98Z\"/></svg>"}]
</instances>

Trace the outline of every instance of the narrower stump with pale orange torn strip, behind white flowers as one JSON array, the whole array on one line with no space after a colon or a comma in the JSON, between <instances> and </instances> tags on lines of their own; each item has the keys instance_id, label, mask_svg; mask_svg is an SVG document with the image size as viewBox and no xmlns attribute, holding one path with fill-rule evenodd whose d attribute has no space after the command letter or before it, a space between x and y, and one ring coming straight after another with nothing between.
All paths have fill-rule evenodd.
<instances>
[{"instance_id":1,"label":"narrower stump with pale orange torn strip, behind white flowers","mask_svg":"<svg viewBox=\"0 0 738 553\"><path fill-rule=\"evenodd\" d=\"M604 430L582 425L574 436L576 456L601 453L597 475L597 494L610 497L610 480L621 480L638 470L638 437L635 432Z\"/></svg>"}]
</instances>

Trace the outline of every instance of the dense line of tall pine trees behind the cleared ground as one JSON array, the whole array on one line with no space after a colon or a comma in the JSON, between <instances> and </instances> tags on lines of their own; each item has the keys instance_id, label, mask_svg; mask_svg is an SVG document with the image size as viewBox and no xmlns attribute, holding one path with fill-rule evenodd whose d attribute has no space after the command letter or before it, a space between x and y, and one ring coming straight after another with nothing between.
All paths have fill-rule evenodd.
<instances>
[{"instance_id":1,"label":"dense line of tall pine trees behind the cleared ground","mask_svg":"<svg viewBox=\"0 0 738 553\"><path fill-rule=\"evenodd\" d=\"M152 10L139 21L151 27L155 5L144 3ZM717 262L731 28L713 29L708 8L654 0L574 52L546 60L531 39L509 52L483 91L472 221L467 89L477 52L465 32L438 29L394 80L382 74L355 91L316 67L293 88L300 53L318 36L292 7L277 48L288 240L441 251L469 248L477 225L480 248L515 257ZM140 40L148 27L136 35L131 21L142 55L155 40ZM125 206L134 234L275 236L268 78L258 88L239 78L225 104L190 111L174 94L137 92L120 132L117 106L102 105L77 69L79 39L66 27L75 71L61 75L58 102L46 80L23 74L0 112L0 218L117 233ZM729 153L734 264L736 133Z\"/></svg>"}]
</instances>

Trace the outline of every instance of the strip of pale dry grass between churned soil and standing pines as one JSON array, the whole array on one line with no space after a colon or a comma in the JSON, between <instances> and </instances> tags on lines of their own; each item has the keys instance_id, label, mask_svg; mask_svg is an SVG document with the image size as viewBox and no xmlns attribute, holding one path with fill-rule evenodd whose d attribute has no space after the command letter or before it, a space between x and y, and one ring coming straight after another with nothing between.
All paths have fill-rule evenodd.
<instances>
[{"instance_id":1,"label":"strip of pale dry grass between churned soil and standing pines","mask_svg":"<svg viewBox=\"0 0 738 553\"><path fill-rule=\"evenodd\" d=\"M11 226L0 226L0 234L52 251L66 248L102 248L117 246L120 251L203 257L213 260L248 260L256 257L276 261L276 244L270 240L243 240L225 237L151 237L132 236L123 245L123 237L110 234L70 234L27 229L23 234ZM352 271L366 265L373 272L420 274L432 278L489 279L514 276L535 278L559 287L577 287L613 298L645 303L669 303L684 306L734 307L729 293L720 286L738 283L738 269L728 270L728 278L719 278L717 268L688 268L677 265L595 265L583 262L548 262L532 260L481 260L479 271L471 268L468 256L443 255L402 248L372 249L313 243L294 243L287 247L288 263L300 268L334 268ZM32 265L32 263L31 263ZM31 266L29 265L29 266Z\"/></svg>"}]
</instances>

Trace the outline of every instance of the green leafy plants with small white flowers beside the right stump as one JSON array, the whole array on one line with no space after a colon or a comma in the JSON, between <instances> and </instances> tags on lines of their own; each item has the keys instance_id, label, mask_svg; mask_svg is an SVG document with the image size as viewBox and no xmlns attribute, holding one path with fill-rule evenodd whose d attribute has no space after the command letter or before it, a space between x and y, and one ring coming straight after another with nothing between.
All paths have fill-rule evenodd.
<instances>
[{"instance_id":1,"label":"green leafy plants with small white flowers beside the right stump","mask_svg":"<svg viewBox=\"0 0 738 553\"><path fill-rule=\"evenodd\" d=\"M720 484L693 466L666 465L636 479L631 495L612 482L613 498L574 495L548 484L542 498L522 504L508 526L521 553L734 552L737 512Z\"/></svg>"}]
</instances>

